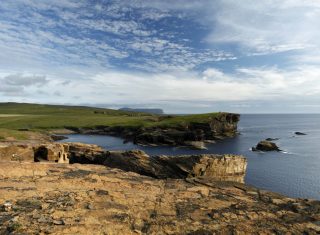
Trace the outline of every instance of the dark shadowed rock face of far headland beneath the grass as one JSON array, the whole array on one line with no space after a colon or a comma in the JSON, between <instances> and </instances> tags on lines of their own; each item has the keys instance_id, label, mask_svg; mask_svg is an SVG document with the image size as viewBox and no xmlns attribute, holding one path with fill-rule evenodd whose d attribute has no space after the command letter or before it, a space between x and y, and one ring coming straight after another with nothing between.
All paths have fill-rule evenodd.
<instances>
[{"instance_id":1,"label":"dark shadowed rock face of far headland beneath the grass","mask_svg":"<svg viewBox=\"0 0 320 235\"><path fill-rule=\"evenodd\" d=\"M154 127L99 126L79 128L75 131L84 134L120 136L140 145L191 146L192 141L220 140L237 134L239 114L221 113L208 120L177 123Z\"/></svg>"}]
</instances>

